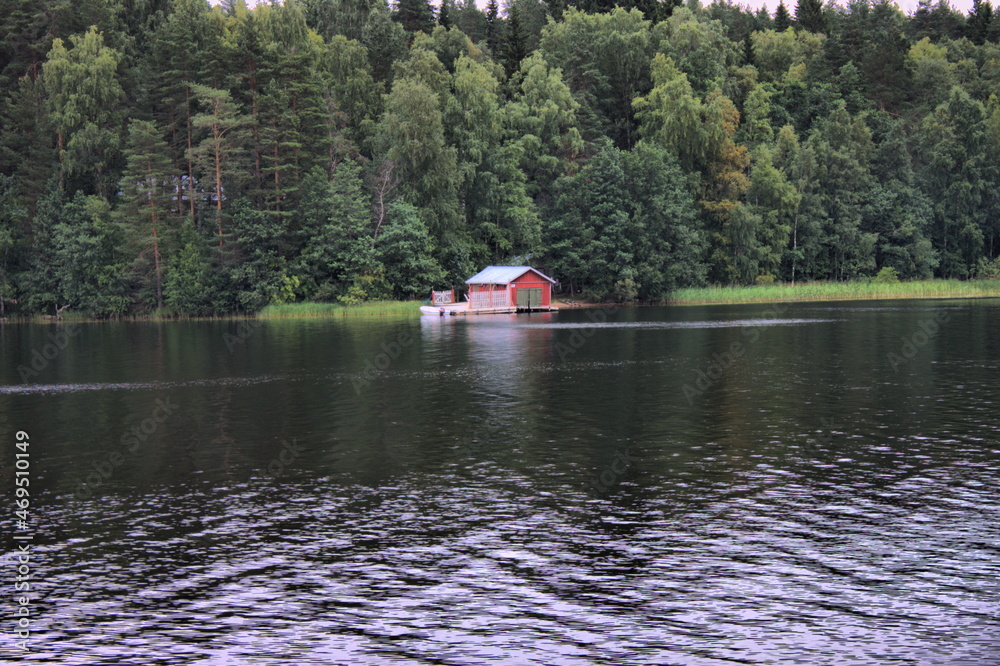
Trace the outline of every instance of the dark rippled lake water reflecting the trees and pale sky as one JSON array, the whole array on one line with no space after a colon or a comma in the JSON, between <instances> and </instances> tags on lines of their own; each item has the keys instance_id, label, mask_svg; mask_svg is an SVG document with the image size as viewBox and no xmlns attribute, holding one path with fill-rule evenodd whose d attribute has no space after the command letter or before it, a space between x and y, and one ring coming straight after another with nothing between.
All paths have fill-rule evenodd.
<instances>
[{"instance_id":1,"label":"dark rippled lake water reflecting the trees and pale sky","mask_svg":"<svg viewBox=\"0 0 1000 666\"><path fill-rule=\"evenodd\" d=\"M1000 663L998 331L998 300L2 326L0 660Z\"/></svg>"}]
</instances>

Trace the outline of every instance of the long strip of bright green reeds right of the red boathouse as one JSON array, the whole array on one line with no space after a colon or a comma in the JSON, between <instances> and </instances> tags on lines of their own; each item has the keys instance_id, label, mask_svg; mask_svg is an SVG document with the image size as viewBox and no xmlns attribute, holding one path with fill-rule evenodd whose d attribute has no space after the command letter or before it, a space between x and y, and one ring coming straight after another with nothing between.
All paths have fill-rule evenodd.
<instances>
[{"instance_id":1,"label":"long strip of bright green reeds right of the red boathouse","mask_svg":"<svg viewBox=\"0 0 1000 666\"><path fill-rule=\"evenodd\" d=\"M794 303L908 298L982 298L1000 296L1000 280L919 280L895 284L871 282L806 282L751 287L679 289L670 305L727 303Z\"/></svg>"}]
</instances>

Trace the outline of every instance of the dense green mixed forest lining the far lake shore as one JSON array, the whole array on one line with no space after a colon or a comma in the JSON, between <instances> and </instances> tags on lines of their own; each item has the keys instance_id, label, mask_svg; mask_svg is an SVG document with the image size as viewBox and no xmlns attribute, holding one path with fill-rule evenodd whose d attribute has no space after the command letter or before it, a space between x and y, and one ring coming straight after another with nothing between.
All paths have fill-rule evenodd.
<instances>
[{"instance_id":1,"label":"dense green mixed forest lining the far lake shore","mask_svg":"<svg viewBox=\"0 0 1000 666\"><path fill-rule=\"evenodd\" d=\"M1000 20L0 0L0 316L1000 275Z\"/></svg>"}]
</instances>

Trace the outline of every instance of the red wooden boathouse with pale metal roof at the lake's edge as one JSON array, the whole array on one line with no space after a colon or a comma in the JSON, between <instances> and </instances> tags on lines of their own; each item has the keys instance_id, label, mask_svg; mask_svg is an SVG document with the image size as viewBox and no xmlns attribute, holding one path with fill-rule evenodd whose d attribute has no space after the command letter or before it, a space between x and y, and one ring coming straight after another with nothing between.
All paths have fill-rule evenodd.
<instances>
[{"instance_id":1,"label":"red wooden boathouse with pale metal roof at the lake's edge","mask_svg":"<svg viewBox=\"0 0 1000 666\"><path fill-rule=\"evenodd\" d=\"M530 266L488 266L465 281L469 310L549 310L555 282Z\"/></svg>"}]
</instances>

